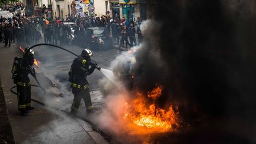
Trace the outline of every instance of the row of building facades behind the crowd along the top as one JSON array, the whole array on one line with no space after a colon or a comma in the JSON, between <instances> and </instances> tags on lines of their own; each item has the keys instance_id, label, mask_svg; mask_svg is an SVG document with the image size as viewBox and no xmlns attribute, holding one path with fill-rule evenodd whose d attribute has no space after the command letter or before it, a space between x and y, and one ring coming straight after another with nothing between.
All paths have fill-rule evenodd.
<instances>
[{"instance_id":1,"label":"row of building facades behind the crowd along the top","mask_svg":"<svg viewBox=\"0 0 256 144\"><path fill-rule=\"evenodd\" d=\"M111 17L119 15L127 20L135 21L137 17L146 20L151 18L155 12L156 1L153 0L23 0L27 7L28 14L43 14L44 17L65 18L74 16L77 12L84 15L95 15L99 17L110 12ZM76 9L72 9L72 2L75 2ZM82 4L81 9L77 8ZM52 8L51 8L52 7ZM51 11L52 9L52 11Z\"/></svg>"}]
</instances>

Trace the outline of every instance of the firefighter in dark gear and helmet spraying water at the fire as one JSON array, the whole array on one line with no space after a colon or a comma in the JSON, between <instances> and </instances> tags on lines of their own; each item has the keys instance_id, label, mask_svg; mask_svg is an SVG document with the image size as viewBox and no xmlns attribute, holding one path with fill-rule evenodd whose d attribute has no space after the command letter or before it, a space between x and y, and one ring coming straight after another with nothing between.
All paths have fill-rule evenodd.
<instances>
[{"instance_id":1,"label":"firefighter in dark gear and helmet spraying water at the fire","mask_svg":"<svg viewBox=\"0 0 256 144\"><path fill-rule=\"evenodd\" d=\"M71 69L69 71L69 81L71 82L72 93L74 95L71 114L76 114L78 112L82 98L85 102L87 112L91 113L93 109L91 95L89 94L87 76L91 75L95 68L99 69L99 67L97 66L97 63L91 63L91 56L91 50L84 49L81 53L81 57L84 59L77 57L73 60L71 65Z\"/></svg>"}]
</instances>

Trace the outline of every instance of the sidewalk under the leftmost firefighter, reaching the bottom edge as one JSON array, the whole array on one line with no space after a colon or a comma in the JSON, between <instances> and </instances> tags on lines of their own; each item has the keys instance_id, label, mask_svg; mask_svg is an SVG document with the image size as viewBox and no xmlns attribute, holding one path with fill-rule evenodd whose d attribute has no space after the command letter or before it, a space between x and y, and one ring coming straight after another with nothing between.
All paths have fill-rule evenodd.
<instances>
[{"instance_id":1,"label":"sidewalk under the leftmost firefighter, reaching the bottom edge","mask_svg":"<svg viewBox=\"0 0 256 144\"><path fill-rule=\"evenodd\" d=\"M11 79L12 62L15 56L21 57L22 53L13 43L11 47L4 47L1 43L0 52L0 78L16 143L107 143L89 123L69 117L68 114L60 111L68 111L72 101L67 100L68 104L60 107L62 106L58 105L60 99L56 97L52 83L43 73L37 73L37 78L46 89L46 95L43 95L41 89L33 87L31 98L43 101L47 107L32 101L35 110L30 111L28 116L20 116L17 95L12 94L9 89L14 86ZM30 78L30 81L31 84L36 84L33 78Z\"/></svg>"}]
</instances>

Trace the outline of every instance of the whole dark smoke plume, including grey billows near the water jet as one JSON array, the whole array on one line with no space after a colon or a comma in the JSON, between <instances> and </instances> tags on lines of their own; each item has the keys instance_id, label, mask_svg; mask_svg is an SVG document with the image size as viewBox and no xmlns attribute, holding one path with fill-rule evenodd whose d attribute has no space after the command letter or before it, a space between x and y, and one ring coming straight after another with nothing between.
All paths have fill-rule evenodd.
<instances>
[{"instance_id":1,"label":"whole dark smoke plume, including grey billows near the water jet","mask_svg":"<svg viewBox=\"0 0 256 144\"><path fill-rule=\"evenodd\" d=\"M211 133L216 142L254 143L254 3L158 1L152 15L156 21L144 33L146 40L135 53L136 63L117 62L113 71L128 89L148 92L162 85L159 106L178 105L185 123L204 133L194 139L206 140L206 133Z\"/></svg>"}]
</instances>

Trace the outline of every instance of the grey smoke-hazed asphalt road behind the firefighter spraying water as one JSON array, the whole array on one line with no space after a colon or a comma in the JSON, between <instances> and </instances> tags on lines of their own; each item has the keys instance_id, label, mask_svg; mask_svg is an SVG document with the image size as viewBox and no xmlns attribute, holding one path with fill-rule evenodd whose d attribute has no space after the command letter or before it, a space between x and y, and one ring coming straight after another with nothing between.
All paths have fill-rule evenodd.
<instances>
[{"instance_id":1,"label":"grey smoke-hazed asphalt road behind the firefighter spraying water","mask_svg":"<svg viewBox=\"0 0 256 144\"><path fill-rule=\"evenodd\" d=\"M82 49L77 46L65 46L65 49L71 50L71 52L80 55ZM70 88L70 82L68 82L68 72L71 67L73 56L71 53L65 52L64 50L57 49L56 47L39 46L34 49L36 55L35 58L40 61L39 68L47 78L49 78L58 88L62 97L73 98ZM101 68L108 68L111 61L116 57L118 50L109 49L104 51L92 50L94 57L92 62L97 62ZM91 91L92 104L95 109L100 109L104 105L102 95L98 86L98 81L103 78L104 75L95 69L92 75L88 76L89 88ZM65 102L71 104L72 100ZM81 107L85 107L84 103L81 103ZM80 108L81 109L81 108Z\"/></svg>"}]
</instances>

